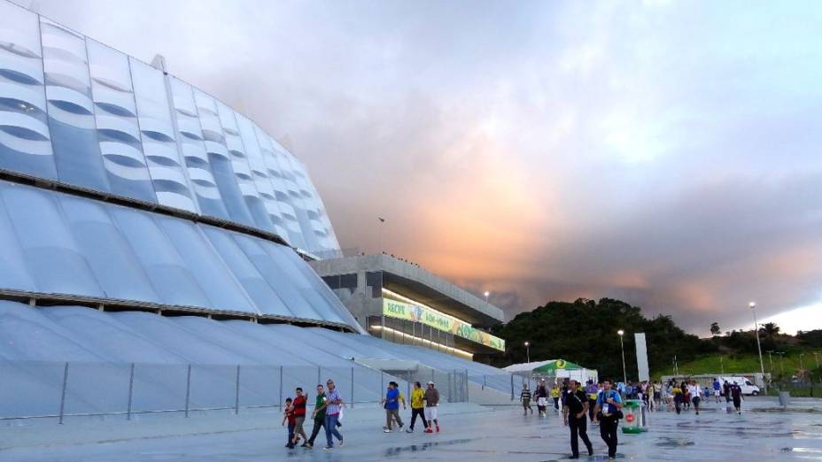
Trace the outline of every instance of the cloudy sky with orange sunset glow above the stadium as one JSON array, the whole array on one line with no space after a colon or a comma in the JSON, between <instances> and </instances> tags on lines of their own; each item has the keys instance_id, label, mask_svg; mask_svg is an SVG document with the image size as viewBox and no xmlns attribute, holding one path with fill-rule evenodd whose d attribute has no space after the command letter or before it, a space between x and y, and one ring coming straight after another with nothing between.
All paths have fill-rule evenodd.
<instances>
[{"instance_id":1,"label":"cloudy sky with orange sunset glow above the stadium","mask_svg":"<svg viewBox=\"0 0 822 462\"><path fill-rule=\"evenodd\" d=\"M28 6L27 0L17 3ZM822 4L35 0L246 113L346 248L512 317L822 328Z\"/></svg>"}]
</instances>

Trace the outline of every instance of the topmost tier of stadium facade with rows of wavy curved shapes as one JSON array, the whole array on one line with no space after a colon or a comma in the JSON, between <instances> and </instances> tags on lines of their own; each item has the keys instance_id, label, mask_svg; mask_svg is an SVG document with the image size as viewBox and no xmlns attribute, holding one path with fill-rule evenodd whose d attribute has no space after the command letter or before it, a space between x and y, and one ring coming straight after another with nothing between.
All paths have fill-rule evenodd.
<instances>
[{"instance_id":1,"label":"topmost tier of stadium facade with rows of wavy curved shapes","mask_svg":"<svg viewBox=\"0 0 822 462\"><path fill-rule=\"evenodd\" d=\"M150 65L2 5L0 68L8 72L0 96L22 106L0 111L0 166L284 232L306 250L330 245L333 230L305 166L250 119Z\"/></svg>"}]
</instances>

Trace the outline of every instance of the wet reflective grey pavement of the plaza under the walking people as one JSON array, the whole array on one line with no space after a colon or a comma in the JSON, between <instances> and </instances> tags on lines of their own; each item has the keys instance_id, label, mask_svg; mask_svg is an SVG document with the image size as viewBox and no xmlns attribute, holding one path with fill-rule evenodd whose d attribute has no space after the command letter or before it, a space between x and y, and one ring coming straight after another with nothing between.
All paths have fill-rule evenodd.
<instances>
[{"instance_id":1,"label":"wet reflective grey pavement of the plaza under the walking people","mask_svg":"<svg viewBox=\"0 0 822 462\"><path fill-rule=\"evenodd\" d=\"M779 412L770 398L749 399L742 415L725 412L725 404L707 404L694 412L649 413L649 430L640 435L619 434L617 459L627 460L822 460L822 402L809 400L795 408L803 412ZM451 409L448 407L451 406ZM463 406L463 407L461 407ZM809 412L816 410L816 412ZM382 432L378 409L351 412L342 428L344 447L322 450L288 450L285 428L226 431L207 435L149 437L107 443L63 444L0 450L0 460L266 460L266 461L364 461L417 460L454 462L469 459L548 461L570 457L569 431L562 418L523 416L519 408L479 408L445 404L442 432L424 435ZM410 411L403 412L403 418ZM450 414L450 415L447 415ZM275 415L271 415L272 420ZM179 425L166 421L158 425ZM153 425L153 424L152 424ZM43 430L47 427L39 427ZM0 433L4 430L0 429ZM593 458L604 460L605 444L599 428L589 425ZM173 435L171 432L168 435ZM580 442L581 449L585 451Z\"/></svg>"}]
</instances>

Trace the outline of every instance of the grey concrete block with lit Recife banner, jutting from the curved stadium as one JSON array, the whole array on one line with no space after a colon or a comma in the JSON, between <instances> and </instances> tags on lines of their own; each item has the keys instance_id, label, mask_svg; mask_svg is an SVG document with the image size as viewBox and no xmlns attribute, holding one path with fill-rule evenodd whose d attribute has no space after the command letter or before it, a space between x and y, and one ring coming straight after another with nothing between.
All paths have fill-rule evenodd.
<instances>
[{"instance_id":1,"label":"grey concrete block with lit Recife banner, jutting from the curved stadium","mask_svg":"<svg viewBox=\"0 0 822 462\"><path fill-rule=\"evenodd\" d=\"M502 310L422 266L384 253L309 265L371 335L468 359L505 351L484 330L502 323Z\"/></svg>"}]
</instances>

